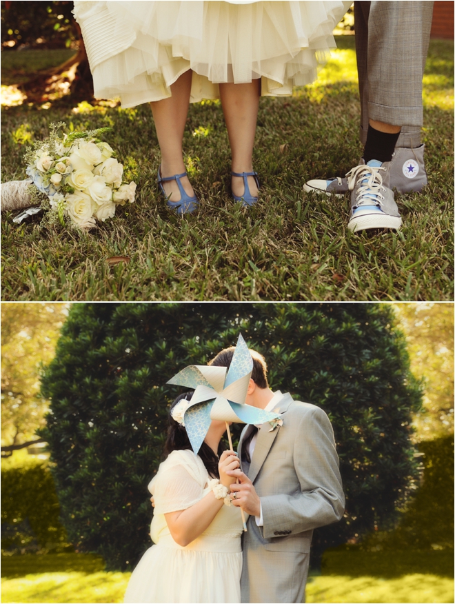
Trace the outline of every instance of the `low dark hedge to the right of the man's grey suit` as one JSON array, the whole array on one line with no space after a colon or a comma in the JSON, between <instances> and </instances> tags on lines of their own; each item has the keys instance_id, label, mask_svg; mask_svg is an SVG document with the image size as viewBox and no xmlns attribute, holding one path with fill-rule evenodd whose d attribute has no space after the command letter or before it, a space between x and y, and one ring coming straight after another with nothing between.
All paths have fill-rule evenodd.
<instances>
[{"instance_id":1,"label":"low dark hedge to the right of the man's grey suit","mask_svg":"<svg viewBox=\"0 0 455 604\"><path fill-rule=\"evenodd\" d=\"M396 529L326 550L323 574L454 576L454 435L423 441L418 449L423 478Z\"/></svg>"}]
</instances>

